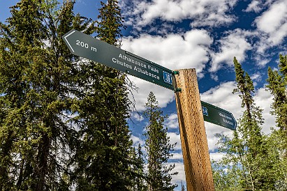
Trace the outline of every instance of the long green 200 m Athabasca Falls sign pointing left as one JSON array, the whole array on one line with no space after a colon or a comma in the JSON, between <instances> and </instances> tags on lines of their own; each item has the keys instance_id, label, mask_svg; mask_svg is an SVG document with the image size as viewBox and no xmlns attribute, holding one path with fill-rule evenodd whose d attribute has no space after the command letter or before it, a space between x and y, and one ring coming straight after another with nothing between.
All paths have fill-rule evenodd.
<instances>
[{"instance_id":1,"label":"long green 200 m Athabasca Falls sign pointing left","mask_svg":"<svg viewBox=\"0 0 287 191\"><path fill-rule=\"evenodd\" d=\"M168 68L159 66L152 61L124 51L80 31L71 30L62 38L72 54L174 90L172 84L173 72Z\"/></svg>"}]
</instances>

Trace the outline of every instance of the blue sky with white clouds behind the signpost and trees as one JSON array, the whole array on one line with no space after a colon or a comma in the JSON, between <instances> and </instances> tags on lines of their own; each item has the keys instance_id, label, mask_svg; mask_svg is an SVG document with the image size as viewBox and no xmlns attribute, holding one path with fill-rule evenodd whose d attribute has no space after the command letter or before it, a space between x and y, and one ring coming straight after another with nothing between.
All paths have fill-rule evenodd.
<instances>
[{"instance_id":1,"label":"blue sky with white clouds behind the signpost and trees","mask_svg":"<svg viewBox=\"0 0 287 191\"><path fill-rule=\"evenodd\" d=\"M17 1L1 0L0 21L9 16L9 6ZM62 2L62 1L60 1ZM249 72L256 87L256 104L264 109L263 131L275 126L270 115L272 95L265 91L267 68L277 69L279 54L287 54L286 0L122 0L119 1L127 29L123 31L122 49L154 61L171 70L196 68L200 99L232 112L242 114L241 100L235 88L233 56ZM76 0L75 13L96 19L100 1ZM153 91L163 112L171 142L177 142L175 162L179 175L174 181L185 181L182 151L177 123L174 93L142 79L129 77L138 92L133 92L140 113ZM146 121L131 113L131 131L135 144L144 143ZM210 157L222 158L216 152L215 133L232 135L226 128L205 123ZM179 188L178 188L179 189Z\"/></svg>"}]
</instances>

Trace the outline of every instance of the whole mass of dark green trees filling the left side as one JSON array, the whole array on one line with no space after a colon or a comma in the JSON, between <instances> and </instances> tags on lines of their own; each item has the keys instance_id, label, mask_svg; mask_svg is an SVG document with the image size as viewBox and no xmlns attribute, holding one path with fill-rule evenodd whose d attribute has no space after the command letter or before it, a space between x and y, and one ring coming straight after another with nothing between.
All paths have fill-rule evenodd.
<instances>
[{"instance_id":1,"label":"whole mass of dark green trees filling the left side","mask_svg":"<svg viewBox=\"0 0 287 191\"><path fill-rule=\"evenodd\" d=\"M120 14L117 1L111 2L100 14ZM109 26L100 20L100 29L74 15L73 6L22 0L1 23L0 190L131 186L135 153L125 76L73 56L61 39L78 29L115 44L122 17ZM105 35L108 29L114 36Z\"/></svg>"}]
</instances>

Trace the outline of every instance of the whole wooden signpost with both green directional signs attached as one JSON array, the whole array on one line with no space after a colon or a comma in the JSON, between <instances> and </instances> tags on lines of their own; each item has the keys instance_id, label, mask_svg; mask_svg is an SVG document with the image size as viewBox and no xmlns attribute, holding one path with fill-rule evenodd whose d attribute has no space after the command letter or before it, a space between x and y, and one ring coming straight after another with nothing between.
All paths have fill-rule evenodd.
<instances>
[{"instance_id":1,"label":"whole wooden signpost with both green directional signs attached","mask_svg":"<svg viewBox=\"0 0 287 191\"><path fill-rule=\"evenodd\" d=\"M195 69L172 71L76 30L63 40L72 54L175 91L186 188L214 190L204 120L232 130L237 124L230 112L200 101Z\"/></svg>"}]
</instances>

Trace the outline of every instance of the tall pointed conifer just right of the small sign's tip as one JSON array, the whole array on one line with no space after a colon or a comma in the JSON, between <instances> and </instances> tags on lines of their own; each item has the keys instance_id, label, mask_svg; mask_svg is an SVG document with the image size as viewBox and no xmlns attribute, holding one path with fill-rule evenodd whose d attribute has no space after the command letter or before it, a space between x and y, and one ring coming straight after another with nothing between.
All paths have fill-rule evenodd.
<instances>
[{"instance_id":1,"label":"tall pointed conifer just right of the small sign's tip","mask_svg":"<svg viewBox=\"0 0 287 191\"><path fill-rule=\"evenodd\" d=\"M234 58L237 89L242 98L242 107L246 110L240 119L239 127L235 132L233 142L240 152L240 160L246 181L245 186L252 189L274 189L274 174L272 159L268 157L266 139L261 132L263 124L262 109L256 107L253 100L254 86L247 72L244 72L240 63ZM234 145L234 144L233 144ZM249 177L248 177L249 176Z\"/></svg>"}]
</instances>

